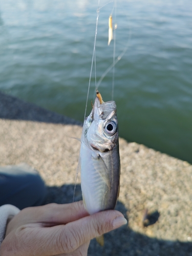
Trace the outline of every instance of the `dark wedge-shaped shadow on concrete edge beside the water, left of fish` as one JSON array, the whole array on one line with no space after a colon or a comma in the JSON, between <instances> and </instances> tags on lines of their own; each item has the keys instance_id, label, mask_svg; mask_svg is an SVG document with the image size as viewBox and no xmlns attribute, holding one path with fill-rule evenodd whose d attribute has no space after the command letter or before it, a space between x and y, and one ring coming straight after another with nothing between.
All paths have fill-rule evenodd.
<instances>
[{"instance_id":1,"label":"dark wedge-shaped shadow on concrete edge beside the water, left of fish","mask_svg":"<svg viewBox=\"0 0 192 256\"><path fill-rule=\"evenodd\" d=\"M45 110L40 108L40 106L24 102L23 100L2 92L0 92L0 118L82 125L81 122L70 117Z\"/></svg>"}]
</instances>

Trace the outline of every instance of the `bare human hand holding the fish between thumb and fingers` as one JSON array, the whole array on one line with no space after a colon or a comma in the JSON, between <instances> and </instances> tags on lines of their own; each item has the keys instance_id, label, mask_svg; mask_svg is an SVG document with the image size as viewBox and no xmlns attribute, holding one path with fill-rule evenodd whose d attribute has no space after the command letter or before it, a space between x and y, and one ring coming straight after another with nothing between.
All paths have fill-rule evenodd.
<instances>
[{"instance_id":1,"label":"bare human hand holding the fish between thumb and fingers","mask_svg":"<svg viewBox=\"0 0 192 256\"><path fill-rule=\"evenodd\" d=\"M89 216L82 201L29 207L9 222L2 256L85 256L90 240L126 224L121 212Z\"/></svg>"}]
</instances>

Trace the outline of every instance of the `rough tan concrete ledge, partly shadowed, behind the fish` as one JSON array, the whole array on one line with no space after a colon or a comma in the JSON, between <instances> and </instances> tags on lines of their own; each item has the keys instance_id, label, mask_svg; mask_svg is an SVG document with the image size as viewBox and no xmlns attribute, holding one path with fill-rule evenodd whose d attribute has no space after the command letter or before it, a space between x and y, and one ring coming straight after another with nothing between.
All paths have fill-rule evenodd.
<instances>
[{"instance_id":1,"label":"rough tan concrete ledge, partly shadowed, behind the fish","mask_svg":"<svg viewBox=\"0 0 192 256\"><path fill-rule=\"evenodd\" d=\"M80 138L79 123L1 93L0 118L0 165L31 165L49 187L46 203L72 202L80 148L72 137ZM88 255L192 256L192 166L135 142L119 142L116 209L128 225L105 234L104 247L93 239Z\"/></svg>"}]
</instances>

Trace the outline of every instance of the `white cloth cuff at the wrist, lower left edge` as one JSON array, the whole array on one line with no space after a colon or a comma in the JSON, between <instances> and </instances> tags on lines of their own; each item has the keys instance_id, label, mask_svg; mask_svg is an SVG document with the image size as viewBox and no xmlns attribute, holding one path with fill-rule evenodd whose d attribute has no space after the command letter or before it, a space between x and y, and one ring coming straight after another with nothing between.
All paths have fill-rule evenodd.
<instances>
[{"instance_id":1,"label":"white cloth cuff at the wrist, lower left edge","mask_svg":"<svg viewBox=\"0 0 192 256\"><path fill-rule=\"evenodd\" d=\"M19 213L19 209L11 204L5 204L0 207L0 246L5 238L7 219Z\"/></svg>"}]
</instances>

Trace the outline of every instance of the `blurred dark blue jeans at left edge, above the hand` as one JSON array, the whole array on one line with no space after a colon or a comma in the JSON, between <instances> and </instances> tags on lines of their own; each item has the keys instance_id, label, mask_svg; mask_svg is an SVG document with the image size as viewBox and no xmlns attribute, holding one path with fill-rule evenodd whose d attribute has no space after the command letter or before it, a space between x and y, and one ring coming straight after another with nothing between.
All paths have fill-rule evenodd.
<instances>
[{"instance_id":1,"label":"blurred dark blue jeans at left edge, above the hand","mask_svg":"<svg viewBox=\"0 0 192 256\"><path fill-rule=\"evenodd\" d=\"M23 209L41 205L47 194L41 177L27 164L0 166L0 206Z\"/></svg>"}]
</instances>

